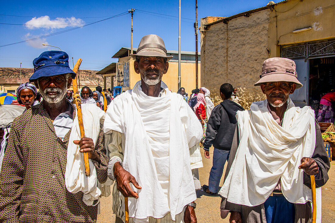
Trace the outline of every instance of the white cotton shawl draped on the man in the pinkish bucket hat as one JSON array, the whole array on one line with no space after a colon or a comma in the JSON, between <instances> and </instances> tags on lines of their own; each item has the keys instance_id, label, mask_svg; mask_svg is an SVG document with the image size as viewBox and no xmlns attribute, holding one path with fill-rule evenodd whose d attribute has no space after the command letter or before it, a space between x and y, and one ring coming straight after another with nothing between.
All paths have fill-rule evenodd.
<instances>
[{"instance_id":1,"label":"white cotton shawl draped on the man in the pinkish bucket hat","mask_svg":"<svg viewBox=\"0 0 335 223\"><path fill-rule=\"evenodd\" d=\"M273 119L267 100L254 102L250 111L238 111L240 144L219 194L235 204L257 206L265 202L279 179L284 197L291 203L311 201L304 185L302 157L315 148L315 114L311 107L288 109L282 126Z\"/></svg>"}]
</instances>

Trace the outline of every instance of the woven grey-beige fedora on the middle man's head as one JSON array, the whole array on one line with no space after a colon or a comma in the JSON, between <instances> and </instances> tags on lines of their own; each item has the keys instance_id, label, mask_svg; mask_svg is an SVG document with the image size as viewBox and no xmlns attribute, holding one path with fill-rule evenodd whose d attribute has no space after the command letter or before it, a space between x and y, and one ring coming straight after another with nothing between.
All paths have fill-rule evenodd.
<instances>
[{"instance_id":1,"label":"woven grey-beige fedora on the middle man's head","mask_svg":"<svg viewBox=\"0 0 335 223\"><path fill-rule=\"evenodd\" d=\"M162 57L167 61L171 60L173 56L166 55L165 44L162 38L155 34L143 36L140 44L138 45L136 54L130 54L136 60L136 56L141 57Z\"/></svg>"}]
</instances>

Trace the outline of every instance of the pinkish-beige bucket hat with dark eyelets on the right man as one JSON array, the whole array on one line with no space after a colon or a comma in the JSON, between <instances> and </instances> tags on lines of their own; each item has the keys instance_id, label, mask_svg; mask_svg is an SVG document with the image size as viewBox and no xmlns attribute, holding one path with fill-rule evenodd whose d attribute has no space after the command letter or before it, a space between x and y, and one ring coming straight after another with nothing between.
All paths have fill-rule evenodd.
<instances>
[{"instance_id":1,"label":"pinkish-beige bucket hat with dark eyelets on the right man","mask_svg":"<svg viewBox=\"0 0 335 223\"><path fill-rule=\"evenodd\" d=\"M303 87L298 81L294 61L287 58L274 57L265 60L260 78L254 86L261 86L266 82L287 81L295 83L296 89Z\"/></svg>"}]
</instances>

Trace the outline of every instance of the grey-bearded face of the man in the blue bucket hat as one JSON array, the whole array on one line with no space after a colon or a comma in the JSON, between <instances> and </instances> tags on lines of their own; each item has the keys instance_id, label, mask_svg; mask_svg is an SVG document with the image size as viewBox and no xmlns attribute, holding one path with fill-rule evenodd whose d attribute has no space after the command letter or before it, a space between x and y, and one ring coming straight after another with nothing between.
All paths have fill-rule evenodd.
<instances>
[{"instance_id":1,"label":"grey-bearded face of the man in the blue bucket hat","mask_svg":"<svg viewBox=\"0 0 335 223\"><path fill-rule=\"evenodd\" d=\"M68 78L67 78L68 77ZM40 93L47 103L60 103L66 94L66 90L71 86L72 78L66 74L41 77L35 81L35 85L40 89Z\"/></svg>"}]
</instances>

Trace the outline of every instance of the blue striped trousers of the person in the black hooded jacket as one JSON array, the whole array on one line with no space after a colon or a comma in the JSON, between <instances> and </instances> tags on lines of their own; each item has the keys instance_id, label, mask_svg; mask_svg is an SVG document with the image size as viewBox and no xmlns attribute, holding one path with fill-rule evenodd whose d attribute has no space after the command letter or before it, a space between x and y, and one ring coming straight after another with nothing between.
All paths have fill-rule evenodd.
<instances>
[{"instance_id":1,"label":"blue striped trousers of the person in the black hooded jacket","mask_svg":"<svg viewBox=\"0 0 335 223\"><path fill-rule=\"evenodd\" d=\"M212 193L219 190L220 180L223 174L224 163L229 158L230 150L222 150L214 148L213 166L209 173L208 188Z\"/></svg>"}]
</instances>

